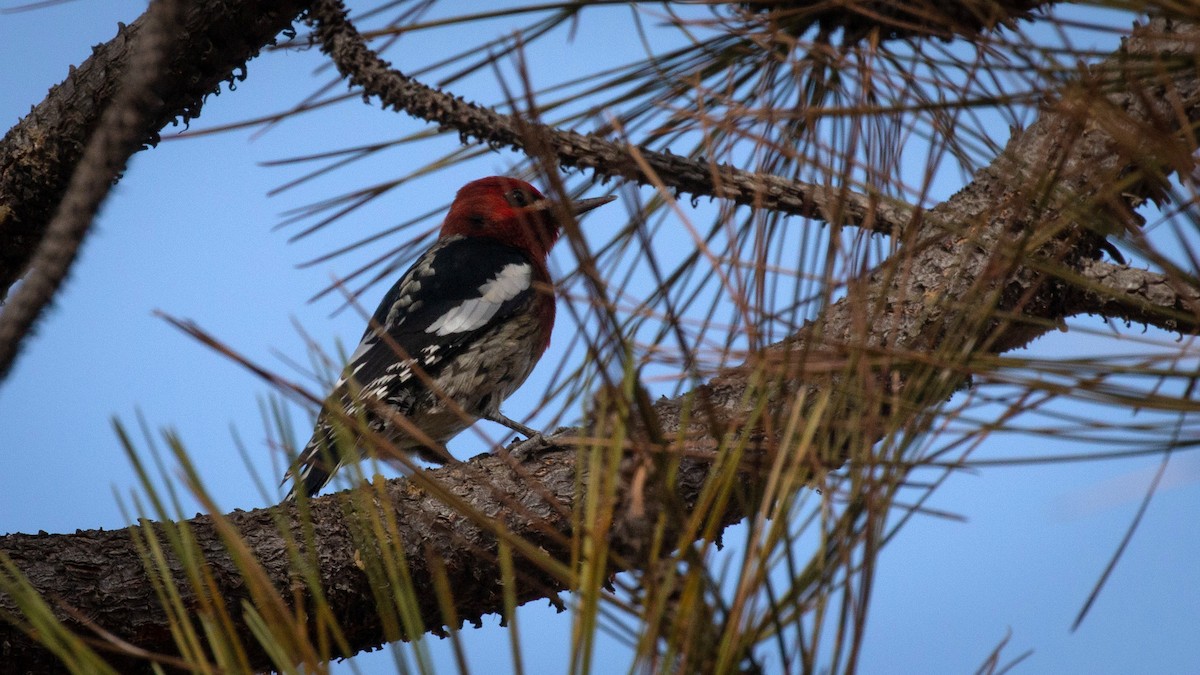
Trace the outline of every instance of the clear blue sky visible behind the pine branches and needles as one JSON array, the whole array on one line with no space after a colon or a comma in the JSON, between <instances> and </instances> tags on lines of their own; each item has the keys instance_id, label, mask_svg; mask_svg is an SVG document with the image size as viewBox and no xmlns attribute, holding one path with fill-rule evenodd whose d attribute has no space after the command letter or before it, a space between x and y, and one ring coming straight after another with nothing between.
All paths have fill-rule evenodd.
<instances>
[{"instance_id":1,"label":"clear blue sky visible behind the pine branches and needles","mask_svg":"<svg viewBox=\"0 0 1200 675\"><path fill-rule=\"evenodd\" d=\"M0 14L0 124L14 124L70 65L90 53L91 44L114 35L115 22L132 20L143 7L142 1L109 0ZM587 42L570 49L602 44L619 50L634 40L623 24L584 22L584 28ZM499 24L480 30L493 29L502 30ZM568 48L562 41L556 44ZM209 98L192 127L286 109L308 95L314 82L330 77L326 71L314 79L322 62L316 50L260 58L235 91ZM532 60L530 66L545 82L570 76L569 59ZM245 443L253 468L274 488L280 458L263 443L259 408L268 387L152 312L194 319L284 372L284 358L307 363L295 324L328 350L337 341L353 347L361 318L355 312L331 316L337 307L332 299L308 301L332 277L353 270L353 262L296 265L408 214L436 208L462 183L505 173L516 156L487 154L298 243L288 241L294 228L275 228L283 211L391 179L419 162L406 163L402 153L391 153L275 197L268 192L305 168L262 163L421 129L355 98L265 133L168 141L138 154L54 309L26 342L12 376L0 383L6 461L0 532L71 532L128 522L114 494L128 504L137 480L112 430L114 417L134 430L139 414L150 429L176 430L222 508L265 506L230 429ZM955 187L944 185L938 192ZM624 210L610 209L593 214L588 226L618 227ZM398 243L389 239L355 259L365 262ZM569 264L563 253L559 264ZM385 285L374 286L364 304L373 307L384 291ZM1031 353L1104 350L1114 345L1055 333ZM548 374L535 372L526 389L540 392L545 380L539 377ZM506 410L528 410L533 400L515 398ZM305 413L294 410L293 422L295 434L306 437ZM463 436L451 448L480 447L478 436ZM990 443L995 455L1080 452L1079 446L1033 436L997 436ZM973 671L1006 637L1007 657L1033 651L1020 673L1200 671L1200 461L1192 454L1172 460L1091 615L1079 631L1070 631L1158 461L992 467L953 476L929 506L965 521L916 518L881 557L863 671ZM530 671L562 671L569 621L556 617L546 603L534 605L521 615L526 664ZM492 617L484 629L464 634L479 671L494 671L486 668L491 653L506 659L506 635L496 623ZM452 668L445 645L430 643L434 658ZM391 658L385 650L354 663L366 673L388 673ZM628 661L614 656L611 665L598 665L602 673L623 673Z\"/></svg>"}]
</instances>

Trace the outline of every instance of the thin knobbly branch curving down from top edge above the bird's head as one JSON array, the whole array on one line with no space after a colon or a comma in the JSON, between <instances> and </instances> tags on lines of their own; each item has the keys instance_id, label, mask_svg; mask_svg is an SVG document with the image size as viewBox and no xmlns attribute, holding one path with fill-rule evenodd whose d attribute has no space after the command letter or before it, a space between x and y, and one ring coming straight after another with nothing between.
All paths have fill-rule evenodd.
<instances>
[{"instance_id":1,"label":"thin knobbly branch curving down from top edge above the bird's head","mask_svg":"<svg viewBox=\"0 0 1200 675\"><path fill-rule=\"evenodd\" d=\"M463 139L475 138L493 148L528 150L529 139L536 138L553 151L564 167L592 169L638 185L652 183L625 143L503 115L394 70L366 46L347 20L341 0L317 0L310 18L316 23L323 49L337 64L338 71L352 84L361 86L366 96L377 96L385 107L452 129ZM652 175L677 193L719 197L737 204L877 232L899 233L916 217L910 205L894 199L792 181L648 148L638 148L637 153L649 165Z\"/></svg>"}]
</instances>

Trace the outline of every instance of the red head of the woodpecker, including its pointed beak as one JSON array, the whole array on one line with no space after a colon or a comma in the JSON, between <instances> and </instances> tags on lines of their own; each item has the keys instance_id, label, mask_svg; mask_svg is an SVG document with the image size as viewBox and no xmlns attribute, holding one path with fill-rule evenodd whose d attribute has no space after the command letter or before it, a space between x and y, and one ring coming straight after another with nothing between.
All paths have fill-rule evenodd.
<instances>
[{"instance_id":1,"label":"red head of the woodpecker, including its pointed beak","mask_svg":"<svg viewBox=\"0 0 1200 675\"><path fill-rule=\"evenodd\" d=\"M575 214L589 211L612 197L570 204ZM558 240L562 213L536 187L516 178L493 175L463 185L450 204L440 237L488 237L545 261Z\"/></svg>"}]
</instances>

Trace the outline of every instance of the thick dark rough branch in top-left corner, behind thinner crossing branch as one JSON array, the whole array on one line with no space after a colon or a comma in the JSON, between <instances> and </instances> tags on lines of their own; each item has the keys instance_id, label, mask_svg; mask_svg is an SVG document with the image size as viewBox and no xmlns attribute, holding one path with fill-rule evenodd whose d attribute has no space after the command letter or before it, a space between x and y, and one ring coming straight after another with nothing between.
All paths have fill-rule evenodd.
<instances>
[{"instance_id":1,"label":"thick dark rough branch in top-left corner, behind thinner crossing branch","mask_svg":"<svg viewBox=\"0 0 1200 675\"><path fill-rule=\"evenodd\" d=\"M173 120L200 113L222 82L245 77L245 64L287 30L307 0L188 2L175 58L161 88L162 107L139 133L154 144ZM50 215L66 191L83 149L109 106L128 65L143 16L121 25L0 141L0 295L29 264Z\"/></svg>"}]
</instances>

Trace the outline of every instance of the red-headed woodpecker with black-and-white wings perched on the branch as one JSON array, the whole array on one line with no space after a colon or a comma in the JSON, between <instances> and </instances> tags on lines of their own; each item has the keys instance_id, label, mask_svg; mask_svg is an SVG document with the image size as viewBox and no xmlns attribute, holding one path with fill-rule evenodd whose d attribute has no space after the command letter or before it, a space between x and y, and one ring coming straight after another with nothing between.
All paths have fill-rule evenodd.
<instances>
[{"instance_id":1,"label":"red-headed woodpecker with black-and-white wings perched on the branch","mask_svg":"<svg viewBox=\"0 0 1200 675\"><path fill-rule=\"evenodd\" d=\"M560 203L493 175L458 190L437 241L388 291L317 416L312 438L283 478L316 496L378 435L433 464L482 418L538 434L499 406L533 371L554 325L547 256L562 220L614 196ZM356 455L346 452L353 443Z\"/></svg>"}]
</instances>

